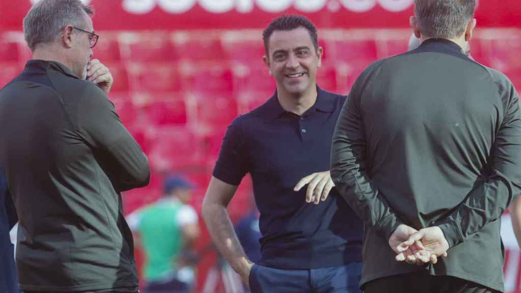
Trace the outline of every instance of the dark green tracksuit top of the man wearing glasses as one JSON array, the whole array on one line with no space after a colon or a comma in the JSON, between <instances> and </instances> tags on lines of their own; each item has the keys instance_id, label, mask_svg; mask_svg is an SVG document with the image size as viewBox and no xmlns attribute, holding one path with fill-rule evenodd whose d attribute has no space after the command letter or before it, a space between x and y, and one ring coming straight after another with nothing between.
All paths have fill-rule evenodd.
<instances>
[{"instance_id":1,"label":"dark green tracksuit top of the man wearing glasses","mask_svg":"<svg viewBox=\"0 0 521 293\"><path fill-rule=\"evenodd\" d=\"M105 93L64 65L30 60L0 90L0 125L20 288L138 286L120 192L147 185L150 171Z\"/></svg>"}]
</instances>

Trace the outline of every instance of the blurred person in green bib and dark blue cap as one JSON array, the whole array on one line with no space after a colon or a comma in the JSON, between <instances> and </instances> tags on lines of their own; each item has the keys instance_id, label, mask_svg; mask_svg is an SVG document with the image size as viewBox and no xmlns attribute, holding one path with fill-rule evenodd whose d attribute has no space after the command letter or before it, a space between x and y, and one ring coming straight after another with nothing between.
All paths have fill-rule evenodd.
<instances>
[{"instance_id":1,"label":"blurred person in green bib and dark blue cap","mask_svg":"<svg viewBox=\"0 0 521 293\"><path fill-rule=\"evenodd\" d=\"M198 216L190 205L193 186L170 175L163 196L128 216L129 226L145 252L145 293L191 292L194 282L194 241L199 237Z\"/></svg>"}]
</instances>

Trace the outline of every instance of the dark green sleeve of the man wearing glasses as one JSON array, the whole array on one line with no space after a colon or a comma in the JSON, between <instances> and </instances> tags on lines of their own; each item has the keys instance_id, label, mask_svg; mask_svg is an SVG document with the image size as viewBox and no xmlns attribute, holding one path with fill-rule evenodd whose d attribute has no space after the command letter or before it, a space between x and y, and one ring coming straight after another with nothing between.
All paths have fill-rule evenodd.
<instances>
[{"instance_id":1,"label":"dark green sleeve of the man wearing glasses","mask_svg":"<svg viewBox=\"0 0 521 293\"><path fill-rule=\"evenodd\" d=\"M143 187L150 180L148 160L121 123L114 104L94 85L86 86L77 109L77 128L98 160L108 169L118 191Z\"/></svg>"}]
</instances>

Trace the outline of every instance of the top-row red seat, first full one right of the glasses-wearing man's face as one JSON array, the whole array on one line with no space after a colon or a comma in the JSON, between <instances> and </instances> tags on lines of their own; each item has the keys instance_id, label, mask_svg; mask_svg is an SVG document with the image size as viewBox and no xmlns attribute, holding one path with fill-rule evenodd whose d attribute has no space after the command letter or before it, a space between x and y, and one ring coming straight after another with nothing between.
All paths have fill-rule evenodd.
<instances>
[{"instance_id":1,"label":"top-row red seat, first full one right of the glasses-wearing man's face","mask_svg":"<svg viewBox=\"0 0 521 293\"><path fill-rule=\"evenodd\" d=\"M177 55L168 32L122 33L121 57L130 62L176 62Z\"/></svg>"}]
</instances>

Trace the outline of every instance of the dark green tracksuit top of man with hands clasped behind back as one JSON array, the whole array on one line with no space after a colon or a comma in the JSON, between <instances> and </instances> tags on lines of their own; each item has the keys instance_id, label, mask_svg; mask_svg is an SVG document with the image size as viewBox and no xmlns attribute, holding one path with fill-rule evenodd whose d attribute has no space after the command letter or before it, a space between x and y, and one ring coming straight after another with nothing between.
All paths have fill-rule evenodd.
<instances>
[{"instance_id":1,"label":"dark green tracksuit top of man with hands clasped behind back","mask_svg":"<svg viewBox=\"0 0 521 293\"><path fill-rule=\"evenodd\" d=\"M440 226L448 257L426 269L503 290L501 215L520 193L518 95L458 45L431 39L371 64L333 136L331 175L365 223L363 276L424 268L396 262L401 223Z\"/></svg>"}]
</instances>

